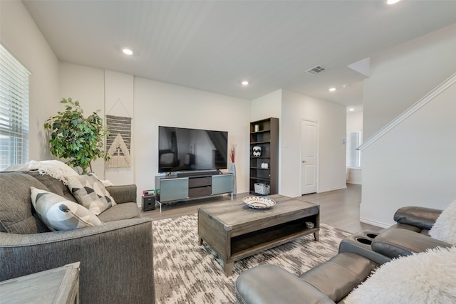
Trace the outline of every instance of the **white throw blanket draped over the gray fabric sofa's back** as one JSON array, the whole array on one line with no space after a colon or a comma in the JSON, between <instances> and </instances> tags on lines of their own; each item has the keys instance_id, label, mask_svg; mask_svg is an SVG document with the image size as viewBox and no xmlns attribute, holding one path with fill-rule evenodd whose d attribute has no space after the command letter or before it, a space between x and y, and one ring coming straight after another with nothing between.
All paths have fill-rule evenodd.
<instances>
[{"instance_id":1,"label":"white throw blanket draped over the gray fabric sofa's back","mask_svg":"<svg viewBox=\"0 0 456 304\"><path fill-rule=\"evenodd\" d=\"M79 175L73 168L61 162L60 160L31 160L25 164L14 164L11 167L4 169L4 171L32 171L38 170L38 173L41 175L50 175L55 179L59 179L63 184L68 185L68 177ZM97 179L98 177L93 174ZM104 187L113 186L113 183L108 180L100 180L103 183Z\"/></svg>"}]
</instances>

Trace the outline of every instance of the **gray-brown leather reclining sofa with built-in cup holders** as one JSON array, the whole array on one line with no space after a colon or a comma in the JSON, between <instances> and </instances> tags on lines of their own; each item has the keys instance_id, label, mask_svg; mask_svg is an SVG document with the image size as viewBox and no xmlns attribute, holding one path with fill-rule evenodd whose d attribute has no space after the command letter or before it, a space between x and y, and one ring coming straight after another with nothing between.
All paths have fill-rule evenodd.
<instances>
[{"instance_id":1,"label":"gray-brown leather reclining sofa with built-in cup holders","mask_svg":"<svg viewBox=\"0 0 456 304\"><path fill-rule=\"evenodd\" d=\"M300 276L294 276L274 265L262 265L244 271L236 281L237 303L347 303L346 297L354 288L371 276L376 268L392 259L398 258L395 261L399 261L400 257L425 253L430 248L436 248L431 251L451 248L452 244L427 235L441 212L413 206L398 209L394 216L398 224L383 231L360 231L349 236L339 244L336 256ZM455 247L447 250L453 251L451 254L454 259ZM446 267L442 263L440 266ZM447 266L455 268L452 261L449 261ZM445 278L441 280L448 281ZM454 288L454 285L452 287ZM451 286L448 289L451 290ZM393 293L393 290L390 292ZM455 303L453 300L456 301L456 298L450 295L450 302L424 297L419 300L418 303ZM417 303L403 299L399 302ZM363 298L362 303L373 302ZM377 296L375 303L398 301L383 301Z\"/></svg>"}]
</instances>

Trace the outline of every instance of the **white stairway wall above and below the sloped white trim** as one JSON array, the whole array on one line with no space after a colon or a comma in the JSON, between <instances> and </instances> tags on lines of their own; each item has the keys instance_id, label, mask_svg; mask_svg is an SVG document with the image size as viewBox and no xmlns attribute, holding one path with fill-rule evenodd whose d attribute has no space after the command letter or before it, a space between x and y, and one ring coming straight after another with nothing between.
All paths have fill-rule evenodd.
<instances>
[{"instance_id":1,"label":"white stairway wall above and below the sloped white trim","mask_svg":"<svg viewBox=\"0 0 456 304\"><path fill-rule=\"evenodd\" d=\"M364 141L456 71L456 24L371 58ZM362 151L361 220L388 226L400 206L445 208L455 192L455 98L432 102ZM366 134L367 133L367 134Z\"/></svg>"}]
</instances>

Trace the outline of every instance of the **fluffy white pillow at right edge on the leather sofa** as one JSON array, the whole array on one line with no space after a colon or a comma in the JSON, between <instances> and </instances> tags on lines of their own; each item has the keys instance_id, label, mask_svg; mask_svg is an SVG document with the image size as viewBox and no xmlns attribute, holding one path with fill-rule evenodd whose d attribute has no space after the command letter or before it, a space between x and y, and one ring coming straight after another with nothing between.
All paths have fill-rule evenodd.
<instances>
[{"instance_id":1,"label":"fluffy white pillow at right edge on the leather sofa","mask_svg":"<svg viewBox=\"0 0 456 304\"><path fill-rule=\"evenodd\" d=\"M456 245L456 201L447 206L429 231L432 238Z\"/></svg>"}]
</instances>

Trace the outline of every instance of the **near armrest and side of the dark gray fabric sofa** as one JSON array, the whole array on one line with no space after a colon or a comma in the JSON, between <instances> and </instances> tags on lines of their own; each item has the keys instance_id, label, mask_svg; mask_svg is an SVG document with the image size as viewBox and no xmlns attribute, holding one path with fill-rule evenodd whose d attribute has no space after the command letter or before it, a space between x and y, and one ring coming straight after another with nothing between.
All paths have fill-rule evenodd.
<instances>
[{"instance_id":1,"label":"near armrest and side of the dark gray fabric sofa","mask_svg":"<svg viewBox=\"0 0 456 304\"><path fill-rule=\"evenodd\" d=\"M41 234L0 233L0 281L81 262L81 303L153 303L152 255L151 219Z\"/></svg>"}]
</instances>

